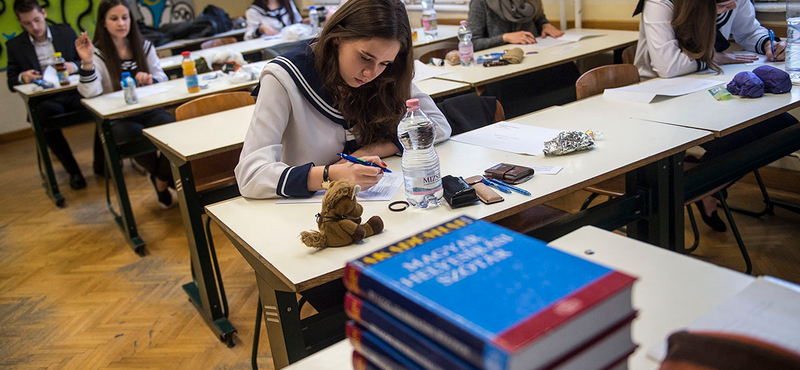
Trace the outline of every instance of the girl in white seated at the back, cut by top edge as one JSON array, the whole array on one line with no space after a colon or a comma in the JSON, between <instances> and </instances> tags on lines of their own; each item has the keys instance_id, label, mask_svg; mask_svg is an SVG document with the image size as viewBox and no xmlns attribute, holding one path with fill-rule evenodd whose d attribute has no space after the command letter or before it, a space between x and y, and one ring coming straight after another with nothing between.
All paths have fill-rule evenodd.
<instances>
[{"instance_id":1,"label":"girl in white seated at the back, cut by top edge","mask_svg":"<svg viewBox=\"0 0 800 370\"><path fill-rule=\"evenodd\" d=\"M255 0L244 16L245 40L277 35L283 27L303 21L292 0Z\"/></svg>"}]
</instances>

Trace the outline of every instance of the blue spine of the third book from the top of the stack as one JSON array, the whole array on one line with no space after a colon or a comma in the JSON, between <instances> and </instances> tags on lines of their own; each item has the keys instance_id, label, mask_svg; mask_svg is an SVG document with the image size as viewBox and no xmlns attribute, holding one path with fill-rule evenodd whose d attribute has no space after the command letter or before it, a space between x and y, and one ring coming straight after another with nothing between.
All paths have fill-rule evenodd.
<instances>
[{"instance_id":1,"label":"blue spine of the third book from the top of the stack","mask_svg":"<svg viewBox=\"0 0 800 370\"><path fill-rule=\"evenodd\" d=\"M353 321L347 322L345 334L359 354L382 370L423 370L411 360L403 357L394 348L378 339L374 334L363 330Z\"/></svg>"}]
</instances>

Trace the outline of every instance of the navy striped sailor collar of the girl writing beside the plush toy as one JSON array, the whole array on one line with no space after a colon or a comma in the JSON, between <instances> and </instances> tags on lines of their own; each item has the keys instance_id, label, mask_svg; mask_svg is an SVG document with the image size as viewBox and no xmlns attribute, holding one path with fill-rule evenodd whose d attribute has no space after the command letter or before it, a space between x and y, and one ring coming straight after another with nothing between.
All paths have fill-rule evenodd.
<instances>
[{"instance_id":1,"label":"navy striped sailor collar of the girl writing beside the plush toy","mask_svg":"<svg viewBox=\"0 0 800 370\"><path fill-rule=\"evenodd\" d=\"M310 46L313 41L308 40L300 43L300 45L273 59L270 63L277 64L285 69L286 72L289 72L289 76L292 77L297 89L317 111L347 129L348 124L344 120L342 112L334 104L333 97L322 88L319 74L314 67L314 52Z\"/></svg>"}]
</instances>

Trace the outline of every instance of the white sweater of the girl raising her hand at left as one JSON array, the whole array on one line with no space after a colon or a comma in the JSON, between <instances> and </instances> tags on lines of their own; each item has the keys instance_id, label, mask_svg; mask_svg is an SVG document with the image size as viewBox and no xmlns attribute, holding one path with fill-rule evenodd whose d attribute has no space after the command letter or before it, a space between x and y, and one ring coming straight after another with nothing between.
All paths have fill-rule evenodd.
<instances>
[{"instance_id":1,"label":"white sweater of the girl raising her hand at left","mask_svg":"<svg viewBox=\"0 0 800 370\"><path fill-rule=\"evenodd\" d=\"M150 41L144 40L142 43L144 53L147 59L148 73L153 76L153 82L167 81L167 74L161 69L161 62L156 54L156 48ZM91 98L100 94L108 94L114 92L111 85L111 76L108 75L108 67L106 66L105 57L103 52L97 47L94 48L94 70L87 72L79 70L81 78L78 83L78 92L84 98ZM144 71L140 71L144 72ZM134 77L134 76L131 76ZM117 79L122 79L122 76L116 76Z\"/></svg>"}]
</instances>

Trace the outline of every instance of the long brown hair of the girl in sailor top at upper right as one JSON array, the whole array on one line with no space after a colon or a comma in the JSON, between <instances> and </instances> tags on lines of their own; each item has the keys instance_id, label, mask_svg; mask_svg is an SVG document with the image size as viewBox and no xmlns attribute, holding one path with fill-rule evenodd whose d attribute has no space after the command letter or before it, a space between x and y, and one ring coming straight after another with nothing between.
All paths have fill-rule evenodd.
<instances>
[{"instance_id":1,"label":"long brown hair of the girl in sailor top at upper right","mask_svg":"<svg viewBox=\"0 0 800 370\"><path fill-rule=\"evenodd\" d=\"M708 64L722 72L714 63L714 40L717 34L717 4L715 0L673 0L672 28L678 46L690 58Z\"/></svg>"}]
</instances>

